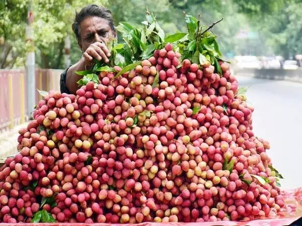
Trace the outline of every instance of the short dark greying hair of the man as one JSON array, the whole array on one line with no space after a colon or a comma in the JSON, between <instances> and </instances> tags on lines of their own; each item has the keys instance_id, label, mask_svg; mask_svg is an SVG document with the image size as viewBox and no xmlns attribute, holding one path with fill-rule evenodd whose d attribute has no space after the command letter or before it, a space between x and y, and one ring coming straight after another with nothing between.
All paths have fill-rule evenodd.
<instances>
[{"instance_id":1,"label":"short dark greying hair of the man","mask_svg":"<svg viewBox=\"0 0 302 226\"><path fill-rule=\"evenodd\" d=\"M115 31L114 22L112 19L112 13L105 7L99 7L97 5L88 5L84 7L80 13L75 12L74 22L72 24L72 30L78 40L81 40L80 36L80 24L87 17L100 17L108 21L112 31Z\"/></svg>"}]
</instances>

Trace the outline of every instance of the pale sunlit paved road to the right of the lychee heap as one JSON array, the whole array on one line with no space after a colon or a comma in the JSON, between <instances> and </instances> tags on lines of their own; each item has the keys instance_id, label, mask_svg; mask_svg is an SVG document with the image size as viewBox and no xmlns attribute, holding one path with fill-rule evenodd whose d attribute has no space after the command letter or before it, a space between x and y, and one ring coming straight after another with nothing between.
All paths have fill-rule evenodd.
<instances>
[{"instance_id":1,"label":"pale sunlit paved road to the right of the lychee heap","mask_svg":"<svg viewBox=\"0 0 302 226\"><path fill-rule=\"evenodd\" d=\"M255 107L253 131L270 142L268 155L285 179L282 188L302 186L302 83L237 77L250 86L248 101ZM301 143L300 143L301 142Z\"/></svg>"}]
</instances>

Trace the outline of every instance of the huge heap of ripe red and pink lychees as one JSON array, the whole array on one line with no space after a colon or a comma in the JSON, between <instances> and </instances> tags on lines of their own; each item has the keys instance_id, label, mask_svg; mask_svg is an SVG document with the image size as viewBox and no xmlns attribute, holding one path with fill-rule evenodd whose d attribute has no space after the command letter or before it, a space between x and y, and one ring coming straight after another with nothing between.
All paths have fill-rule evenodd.
<instances>
[{"instance_id":1,"label":"huge heap of ripe red and pink lychees","mask_svg":"<svg viewBox=\"0 0 302 226\"><path fill-rule=\"evenodd\" d=\"M128 71L99 67L99 84L86 75L77 95L49 91L19 131L19 153L0 169L0 222L30 222L40 210L62 223L116 224L253 220L294 209L229 65L177 49L143 53L148 59Z\"/></svg>"}]
</instances>

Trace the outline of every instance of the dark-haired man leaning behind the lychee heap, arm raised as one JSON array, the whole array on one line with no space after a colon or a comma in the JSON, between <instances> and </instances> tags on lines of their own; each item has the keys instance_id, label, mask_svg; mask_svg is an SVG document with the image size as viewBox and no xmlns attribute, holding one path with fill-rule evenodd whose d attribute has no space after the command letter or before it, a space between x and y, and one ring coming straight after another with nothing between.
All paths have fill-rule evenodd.
<instances>
[{"instance_id":1,"label":"dark-haired man leaning behind the lychee heap, arm raised","mask_svg":"<svg viewBox=\"0 0 302 226\"><path fill-rule=\"evenodd\" d=\"M106 43L116 37L116 31L111 12L96 5L84 7L80 13L75 14L72 30L83 55L78 63L69 66L61 74L60 89L61 93L75 94L79 88L77 82L82 78L75 72L91 69L94 59L108 63L110 52Z\"/></svg>"}]
</instances>

